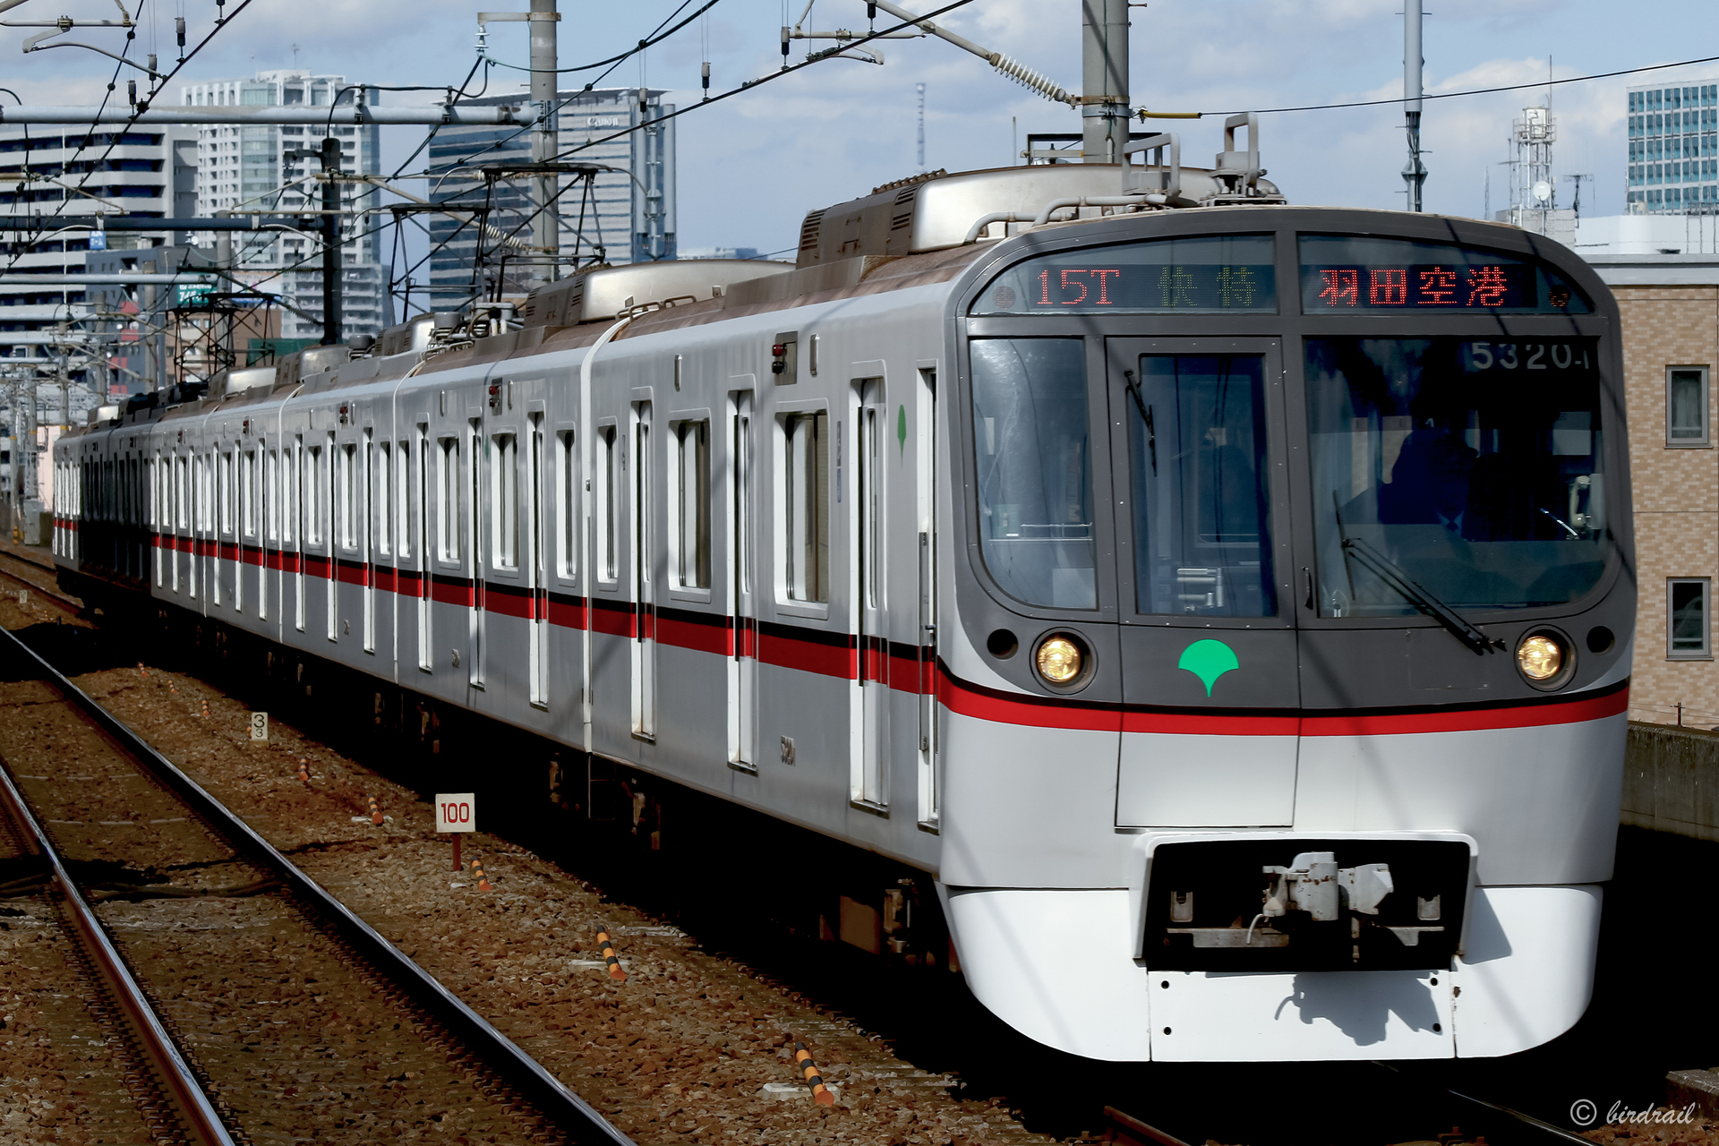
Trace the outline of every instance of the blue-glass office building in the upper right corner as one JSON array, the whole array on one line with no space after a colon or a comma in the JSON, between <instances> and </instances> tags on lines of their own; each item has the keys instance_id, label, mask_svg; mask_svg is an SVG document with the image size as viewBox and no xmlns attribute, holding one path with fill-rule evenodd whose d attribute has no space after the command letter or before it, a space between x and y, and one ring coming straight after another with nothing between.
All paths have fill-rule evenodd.
<instances>
[{"instance_id":1,"label":"blue-glass office building in the upper right corner","mask_svg":"<svg viewBox=\"0 0 1719 1146\"><path fill-rule=\"evenodd\" d=\"M1630 211L1719 211L1719 81L1630 88Z\"/></svg>"}]
</instances>

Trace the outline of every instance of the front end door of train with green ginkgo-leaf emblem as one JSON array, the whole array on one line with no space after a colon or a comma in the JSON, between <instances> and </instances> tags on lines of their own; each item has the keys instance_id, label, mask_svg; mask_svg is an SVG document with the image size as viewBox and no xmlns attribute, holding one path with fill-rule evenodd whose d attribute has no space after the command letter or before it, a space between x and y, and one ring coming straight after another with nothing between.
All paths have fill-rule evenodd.
<instances>
[{"instance_id":1,"label":"front end door of train with green ginkgo-leaf emblem","mask_svg":"<svg viewBox=\"0 0 1719 1146\"><path fill-rule=\"evenodd\" d=\"M1110 338L1124 826L1286 826L1300 684L1274 338Z\"/></svg>"}]
</instances>

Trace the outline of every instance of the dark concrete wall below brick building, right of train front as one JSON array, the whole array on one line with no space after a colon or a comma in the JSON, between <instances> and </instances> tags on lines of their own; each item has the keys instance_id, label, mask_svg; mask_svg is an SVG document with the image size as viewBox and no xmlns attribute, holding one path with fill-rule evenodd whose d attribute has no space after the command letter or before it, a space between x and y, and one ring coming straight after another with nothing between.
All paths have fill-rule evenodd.
<instances>
[{"instance_id":1,"label":"dark concrete wall below brick building, right of train front","mask_svg":"<svg viewBox=\"0 0 1719 1146\"><path fill-rule=\"evenodd\" d=\"M1719 732L1631 722L1623 823L1719 840Z\"/></svg>"}]
</instances>

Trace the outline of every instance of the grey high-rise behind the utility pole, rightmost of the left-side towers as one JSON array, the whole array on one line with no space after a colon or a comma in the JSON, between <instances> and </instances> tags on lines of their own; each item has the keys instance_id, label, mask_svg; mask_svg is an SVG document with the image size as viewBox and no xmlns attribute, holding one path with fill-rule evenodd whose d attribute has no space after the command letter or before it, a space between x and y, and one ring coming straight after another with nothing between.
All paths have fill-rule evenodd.
<instances>
[{"instance_id":1,"label":"grey high-rise behind the utility pole, rightmost of the left-side towers","mask_svg":"<svg viewBox=\"0 0 1719 1146\"><path fill-rule=\"evenodd\" d=\"M645 263L676 258L676 120L629 131L674 110L662 96L658 88L559 93L557 163L595 165L595 170L555 174L554 211L564 259ZM485 96L469 103L521 101L523 96ZM519 247L531 242L533 180L516 168L529 162L529 127L447 125L437 131L430 141L430 172L438 179L431 182L430 198L486 210L488 230L481 232L480 258L476 225L444 215L425 220L433 306L454 306L492 292L497 277L504 294L524 294L531 270L523 263L528 253ZM499 235L512 235L517 244Z\"/></svg>"}]
</instances>

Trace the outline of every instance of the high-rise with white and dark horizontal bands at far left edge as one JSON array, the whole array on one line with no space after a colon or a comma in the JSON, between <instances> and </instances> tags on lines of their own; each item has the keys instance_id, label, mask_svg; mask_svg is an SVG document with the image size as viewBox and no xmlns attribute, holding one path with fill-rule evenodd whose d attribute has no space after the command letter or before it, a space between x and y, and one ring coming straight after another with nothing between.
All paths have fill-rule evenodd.
<instances>
[{"instance_id":1,"label":"high-rise with white and dark horizontal bands at far left edge","mask_svg":"<svg viewBox=\"0 0 1719 1146\"><path fill-rule=\"evenodd\" d=\"M98 213L184 216L196 210L196 129L129 131L60 125L0 125L0 273L77 275L91 249L150 249L167 232L107 232ZM29 175L28 182L12 182ZM96 299L65 283L0 285L0 373L7 380L57 378L72 393L107 397L108 356L81 349L91 332L110 326L91 318ZM108 347L113 349L113 347ZM43 400L58 404L60 388ZM81 414L77 402L72 416ZM45 418L60 418L58 412Z\"/></svg>"}]
</instances>

